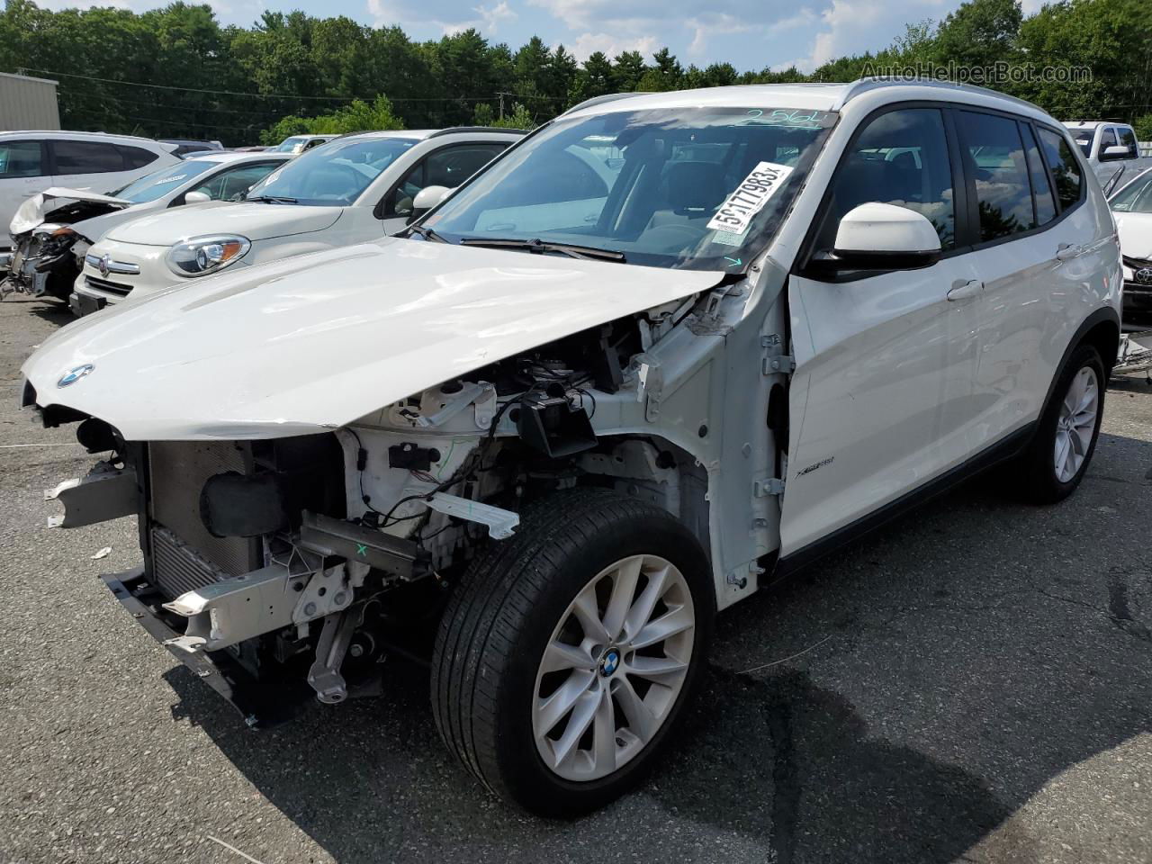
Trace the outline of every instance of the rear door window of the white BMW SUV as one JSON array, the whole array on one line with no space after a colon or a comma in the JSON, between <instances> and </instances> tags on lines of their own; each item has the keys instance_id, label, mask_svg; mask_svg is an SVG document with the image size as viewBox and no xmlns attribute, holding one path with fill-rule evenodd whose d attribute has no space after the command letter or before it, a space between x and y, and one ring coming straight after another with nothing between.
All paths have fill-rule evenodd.
<instances>
[{"instance_id":1,"label":"rear door window of the white BMW SUV","mask_svg":"<svg viewBox=\"0 0 1152 864\"><path fill-rule=\"evenodd\" d=\"M1034 228L1032 187L1016 121L964 111L958 127L976 189L980 242Z\"/></svg>"}]
</instances>

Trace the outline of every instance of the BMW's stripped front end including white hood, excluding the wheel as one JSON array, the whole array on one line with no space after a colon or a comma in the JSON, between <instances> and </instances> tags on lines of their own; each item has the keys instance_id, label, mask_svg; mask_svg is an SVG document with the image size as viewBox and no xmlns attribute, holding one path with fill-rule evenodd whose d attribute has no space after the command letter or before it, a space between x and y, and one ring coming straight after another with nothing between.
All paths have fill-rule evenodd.
<instances>
[{"instance_id":1,"label":"BMW's stripped front end including white hood, excluding the wheel","mask_svg":"<svg viewBox=\"0 0 1152 864\"><path fill-rule=\"evenodd\" d=\"M386 658L427 659L469 563L576 486L668 510L727 546L727 601L755 590L771 526L713 543L708 502L742 278L636 268L624 291L611 264L391 245L386 289L366 285L379 248L339 250L321 287L308 262L225 276L25 364L25 406L113 454L53 490L61 526L138 515L143 567L106 582L174 657L250 725L378 692Z\"/></svg>"}]
</instances>

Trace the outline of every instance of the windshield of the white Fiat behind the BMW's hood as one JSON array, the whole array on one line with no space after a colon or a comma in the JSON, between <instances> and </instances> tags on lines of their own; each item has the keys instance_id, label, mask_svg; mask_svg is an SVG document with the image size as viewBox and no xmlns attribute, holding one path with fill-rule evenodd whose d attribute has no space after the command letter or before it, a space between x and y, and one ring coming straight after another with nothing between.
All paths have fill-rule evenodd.
<instances>
[{"instance_id":1,"label":"windshield of the white Fiat behind the BMW's hood","mask_svg":"<svg viewBox=\"0 0 1152 864\"><path fill-rule=\"evenodd\" d=\"M288 204L347 206L401 153L410 138L343 138L293 159L248 192L248 199L276 198Z\"/></svg>"}]
</instances>

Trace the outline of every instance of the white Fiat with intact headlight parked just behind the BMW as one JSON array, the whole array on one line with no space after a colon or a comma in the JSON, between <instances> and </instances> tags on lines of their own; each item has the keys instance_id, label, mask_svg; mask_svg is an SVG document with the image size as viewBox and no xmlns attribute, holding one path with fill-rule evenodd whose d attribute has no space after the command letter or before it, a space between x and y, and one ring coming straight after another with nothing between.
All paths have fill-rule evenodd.
<instances>
[{"instance_id":1,"label":"white Fiat with intact headlight parked just behind the BMW","mask_svg":"<svg viewBox=\"0 0 1152 864\"><path fill-rule=\"evenodd\" d=\"M454 128L347 135L273 172L238 204L166 211L112 228L76 280L85 303L132 300L402 230L424 187L467 180L523 132ZM96 262L108 260L108 273ZM112 274L112 275L109 275Z\"/></svg>"}]
</instances>

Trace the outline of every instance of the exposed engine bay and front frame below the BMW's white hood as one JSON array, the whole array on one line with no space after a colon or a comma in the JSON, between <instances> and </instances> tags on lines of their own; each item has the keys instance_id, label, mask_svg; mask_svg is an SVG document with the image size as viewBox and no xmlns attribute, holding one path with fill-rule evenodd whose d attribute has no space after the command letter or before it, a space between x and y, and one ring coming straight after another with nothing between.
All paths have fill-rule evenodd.
<instances>
[{"instance_id":1,"label":"exposed engine bay and front frame below the BMW's white hood","mask_svg":"<svg viewBox=\"0 0 1152 864\"><path fill-rule=\"evenodd\" d=\"M145 564L109 588L250 723L274 721L287 691L329 704L377 692L384 657L426 653L445 589L477 550L510 537L517 514L552 492L626 490L707 545L699 460L652 435L600 437L593 420L622 403L658 417L645 351L688 319L714 326L729 288L492 363L328 433L136 444L44 408L46 424L82 419L81 442L113 453L48 493L65 505L56 523L142 515Z\"/></svg>"}]
</instances>

